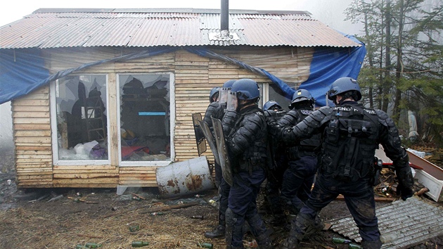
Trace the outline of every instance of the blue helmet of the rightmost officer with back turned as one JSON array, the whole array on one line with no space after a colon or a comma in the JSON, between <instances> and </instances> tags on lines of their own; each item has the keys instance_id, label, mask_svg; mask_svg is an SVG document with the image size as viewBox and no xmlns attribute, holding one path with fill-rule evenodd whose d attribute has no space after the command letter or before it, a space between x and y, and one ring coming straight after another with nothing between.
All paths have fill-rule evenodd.
<instances>
[{"instance_id":1,"label":"blue helmet of the rightmost officer with back turned","mask_svg":"<svg viewBox=\"0 0 443 249\"><path fill-rule=\"evenodd\" d=\"M338 95L344 95L342 101L350 96L354 98L354 101L361 100L360 86L357 80L351 77L342 77L335 80L335 82L330 85L328 98L335 102L335 97Z\"/></svg>"}]
</instances>

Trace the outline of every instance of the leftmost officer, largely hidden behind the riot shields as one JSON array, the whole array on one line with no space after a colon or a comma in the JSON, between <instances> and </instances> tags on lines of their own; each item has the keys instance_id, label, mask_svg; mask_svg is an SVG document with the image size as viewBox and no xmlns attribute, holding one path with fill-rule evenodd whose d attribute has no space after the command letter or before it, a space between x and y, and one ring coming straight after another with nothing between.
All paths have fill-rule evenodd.
<instances>
[{"instance_id":1,"label":"leftmost officer, largely hidden behind the riot shields","mask_svg":"<svg viewBox=\"0 0 443 249\"><path fill-rule=\"evenodd\" d=\"M233 82L236 82L235 79L230 79L224 82L223 87L219 89L219 99L218 102L210 103L207 107L205 117L203 121L207 122L208 126L211 129L212 134L214 135L213 127L212 127L212 119L211 117L217 118L219 120L223 119L224 113L226 111L226 101L228 98L228 94L231 91L231 87ZM212 231L206 231L205 237L207 238L220 238L224 236L224 232L226 229L226 218L225 212L228 208L228 196L229 189L231 186L224 181L223 176L221 174L221 167L218 164L215 164L215 179L217 187L219 188L219 215L218 215L218 224Z\"/></svg>"}]
</instances>

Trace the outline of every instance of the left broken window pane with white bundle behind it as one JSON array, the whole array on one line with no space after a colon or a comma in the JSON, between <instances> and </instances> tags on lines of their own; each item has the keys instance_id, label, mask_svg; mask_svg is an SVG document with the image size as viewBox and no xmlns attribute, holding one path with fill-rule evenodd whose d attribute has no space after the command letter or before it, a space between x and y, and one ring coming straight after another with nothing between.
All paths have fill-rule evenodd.
<instances>
[{"instance_id":1,"label":"left broken window pane with white bundle behind it","mask_svg":"<svg viewBox=\"0 0 443 249\"><path fill-rule=\"evenodd\" d=\"M56 81L58 160L108 160L106 80L79 75Z\"/></svg>"}]
</instances>

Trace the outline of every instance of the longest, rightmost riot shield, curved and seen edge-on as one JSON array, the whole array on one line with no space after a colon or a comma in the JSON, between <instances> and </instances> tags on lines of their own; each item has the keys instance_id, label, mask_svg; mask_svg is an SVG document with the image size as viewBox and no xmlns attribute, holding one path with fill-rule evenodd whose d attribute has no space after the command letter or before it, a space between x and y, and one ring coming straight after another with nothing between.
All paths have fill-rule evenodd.
<instances>
[{"instance_id":1,"label":"longest, rightmost riot shield, curved and seen edge-on","mask_svg":"<svg viewBox=\"0 0 443 249\"><path fill-rule=\"evenodd\" d=\"M219 153L219 160L221 166L221 174L224 180L232 186L233 176L231 162L229 161L228 149L224 143L223 127L221 126L221 121L217 118L212 117L212 127L215 132L215 142L217 143L217 151Z\"/></svg>"}]
</instances>

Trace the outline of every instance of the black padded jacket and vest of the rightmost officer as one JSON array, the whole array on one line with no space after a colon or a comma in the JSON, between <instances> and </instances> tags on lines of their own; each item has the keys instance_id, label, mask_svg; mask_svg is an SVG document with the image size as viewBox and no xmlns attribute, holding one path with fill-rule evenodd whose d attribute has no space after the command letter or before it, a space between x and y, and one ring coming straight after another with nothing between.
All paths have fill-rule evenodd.
<instances>
[{"instance_id":1,"label":"black padded jacket and vest of the rightmost officer","mask_svg":"<svg viewBox=\"0 0 443 249\"><path fill-rule=\"evenodd\" d=\"M285 143L292 144L323 132L321 172L344 181L372 177L375 149L380 143L393 161L399 184L413 186L408 155L401 146L398 130L382 110L367 109L356 102L326 106L294 127L275 125L272 129Z\"/></svg>"}]
</instances>

